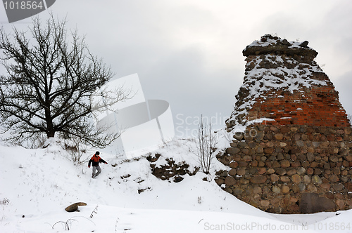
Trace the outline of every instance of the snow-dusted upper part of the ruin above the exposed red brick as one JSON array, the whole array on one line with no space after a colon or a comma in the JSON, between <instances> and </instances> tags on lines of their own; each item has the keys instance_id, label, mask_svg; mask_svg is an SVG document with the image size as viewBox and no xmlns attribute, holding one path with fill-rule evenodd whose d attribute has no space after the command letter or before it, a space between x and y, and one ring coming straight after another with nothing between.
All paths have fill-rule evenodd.
<instances>
[{"instance_id":1,"label":"snow-dusted upper part of the ruin above the exposed red brick","mask_svg":"<svg viewBox=\"0 0 352 233\"><path fill-rule=\"evenodd\" d=\"M236 95L237 102L229 121L246 124L247 111L270 91L303 93L310 86L327 86L329 79L318 80L313 74L324 73L314 61L318 52L307 46L308 41L288 42L277 36L265 35L244 49L246 72ZM263 101L262 100L262 101Z\"/></svg>"}]
</instances>

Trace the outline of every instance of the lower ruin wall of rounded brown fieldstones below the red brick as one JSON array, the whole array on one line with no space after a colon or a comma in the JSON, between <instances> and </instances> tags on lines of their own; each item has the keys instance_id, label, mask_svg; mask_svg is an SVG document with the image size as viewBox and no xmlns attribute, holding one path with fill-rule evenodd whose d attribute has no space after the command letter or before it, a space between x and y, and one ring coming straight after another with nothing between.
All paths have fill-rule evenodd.
<instances>
[{"instance_id":1,"label":"lower ruin wall of rounded brown fieldstones below the red brick","mask_svg":"<svg viewBox=\"0 0 352 233\"><path fill-rule=\"evenodd\" d=\"M218 157L231 169L220 171L216 182L270 213L350 209L351 132L349 127L249 126ZM314 201L318 204L311 206Z\"/></svg>"}]
</instances>

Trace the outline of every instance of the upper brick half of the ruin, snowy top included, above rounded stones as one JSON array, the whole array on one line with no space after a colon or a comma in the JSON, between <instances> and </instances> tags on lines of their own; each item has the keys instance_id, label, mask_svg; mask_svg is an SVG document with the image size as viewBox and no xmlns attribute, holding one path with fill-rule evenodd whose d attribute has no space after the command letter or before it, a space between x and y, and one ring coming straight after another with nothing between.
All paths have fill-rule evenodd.
<instances>
[{"instance_id":1,"label":"upper brick half of the ruin, snowy top included, above rounded stones","mask_svg":"<svg viewBox=\"0 0 352 233\"><path fill-rule=\"evenodd\" d=\"M244 83L227 120L229 131L263 118L279 125L349 126L338 92L314 61L318 53L307 45L267 34L244 49Z\"/></svg>"}]
</instances>

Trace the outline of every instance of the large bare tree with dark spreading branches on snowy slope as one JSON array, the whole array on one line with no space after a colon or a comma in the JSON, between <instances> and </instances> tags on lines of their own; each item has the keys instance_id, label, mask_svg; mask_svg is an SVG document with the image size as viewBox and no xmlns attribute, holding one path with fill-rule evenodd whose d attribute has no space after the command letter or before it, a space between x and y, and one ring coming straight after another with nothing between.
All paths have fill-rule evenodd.
<instances>
[{"instance_id":1,"label":"large bare tree with dark spreading branches on snowy slope","mask_svg":"<svg viewBox=\"0 0 352 233\"><path fill-rule=\"evenodd\" d=\"M0 117L10 142L20 145L33 138L59 135L79 137L95 147L104 147L119 133L96 128L90 95L113 76L111 68L90 53L77 30L68 33L66 20L51 15L45 23L32 20L28 32L13 27L0 29L0 58L6 74L0 76ZM94 109L125 100L129 91L118 89L114 98Z\"/></svg>"}]
</instances>

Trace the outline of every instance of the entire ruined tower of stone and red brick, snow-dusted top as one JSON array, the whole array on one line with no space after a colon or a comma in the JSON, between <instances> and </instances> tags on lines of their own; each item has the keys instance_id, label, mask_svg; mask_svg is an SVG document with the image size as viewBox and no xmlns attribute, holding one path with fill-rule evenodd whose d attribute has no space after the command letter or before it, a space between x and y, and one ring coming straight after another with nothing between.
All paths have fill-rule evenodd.
<instances>
[{"instance_id":1,"label":"entire ruined tower of stone and red brick, snow-dusted top","mask_svg":"<svg viewBox=\"0 0 352 233\"><path fill-rule=\"evenodd\" d=\"M218 155L229 171L217 173L218 185L271 213L352 208L352 129L318 53L271 35L243 53L244 84L226 122L233 140Z\"/></svg>"}]
</instances>

